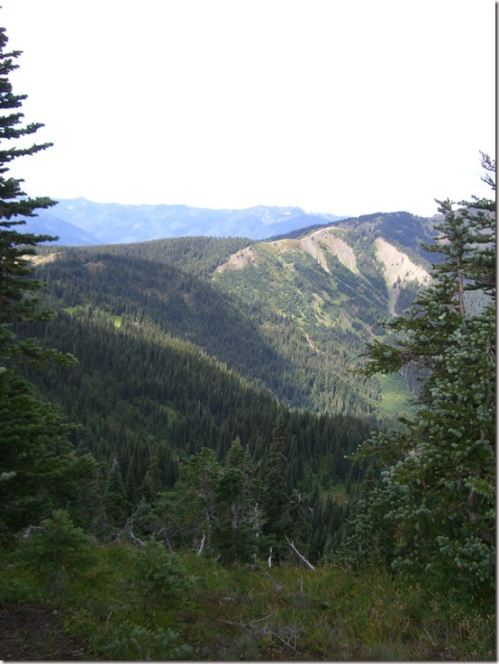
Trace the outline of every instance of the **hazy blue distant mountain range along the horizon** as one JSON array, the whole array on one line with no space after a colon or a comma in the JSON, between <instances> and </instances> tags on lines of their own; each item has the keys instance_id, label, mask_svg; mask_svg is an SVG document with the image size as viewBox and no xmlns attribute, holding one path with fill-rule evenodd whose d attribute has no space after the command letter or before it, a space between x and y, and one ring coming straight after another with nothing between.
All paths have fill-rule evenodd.
<instances>
[{"instance_id":1,"label":"hazy blue distant mountain range along the horizon","mask_svg":"<svg viewBox=\"0 0 499 664\"><path fill-rule=\"evenodd\" d=\"M264 240L309 226L344 219L309 214L299 207L257 205L244 210L210 210L187 205L121 205L86 198L59 200L27 220L25 230L59 236L60 245L121 244L177 237L245 237Z\"/></svg>"}]
</instances>

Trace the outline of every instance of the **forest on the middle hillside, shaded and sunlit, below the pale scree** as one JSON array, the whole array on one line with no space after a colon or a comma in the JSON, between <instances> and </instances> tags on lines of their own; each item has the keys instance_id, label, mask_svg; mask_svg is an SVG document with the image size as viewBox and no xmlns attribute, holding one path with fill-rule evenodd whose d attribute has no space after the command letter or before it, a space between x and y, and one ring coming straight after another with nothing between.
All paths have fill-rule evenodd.
<instances>
[{"instance_id":1,"label":"forest on the middle hillside, shaded and sunlit, below the pale scree","mask_svg":"<svg viewBox=\"0 0 499 664\"><path fill-rule=\"evenodd\" d=\"M268 268L249 266L208 275L186 257L195 254L201 265L211 266L215 258L222 259L215 243L204 245L190 238L173 242L64 250L40 266L49 282L50 304L74 314L83 307L93 318L105 313L110 322L119 319L122 327L150 321L163 333L195 343L247 379L257 379L290 405L358 415L373 411L376 384L362 386L347 371L358 364L364 332L343 329L339 304L328 295L332 289L335 300L340 297L335 279L311 257L297 273L283 270L269 253L268 260L274 262ZM258 246L263 251L263 245ZM233 247L227 245L229 249ZM298 278L304 290L321 298L321 320L316 296L297 293ZM376 323L371 286L366 280L353 281L349 294L361 301L349 308L349 314ZM386 300L385 284L380 287ZM377 304L383 311L383 293ZM362 323L358 325L364 330ZM54 337L47 345L57 341Z\"/></svg>"}]
</instances>

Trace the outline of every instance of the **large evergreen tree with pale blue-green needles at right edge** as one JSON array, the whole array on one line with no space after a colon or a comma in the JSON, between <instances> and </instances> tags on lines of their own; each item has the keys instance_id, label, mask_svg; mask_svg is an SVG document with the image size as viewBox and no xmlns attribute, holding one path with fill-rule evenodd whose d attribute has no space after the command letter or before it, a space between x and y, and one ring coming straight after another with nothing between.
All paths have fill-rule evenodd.
<instances>
[{"instance_id":1,"label":"large evergreen tree with pale blue-green needles at right edge","mask_svg":"<svg viewBox=\"0 0 499 664\"><path fill-rule=\"evenodd\" d=\"M375 457L386 470L358 503L338 558L384 561L408 578L484 597L495 561L495 218L492 201L480 202L486 214L451 205L440 207L444 260L433 283L389 323L398 344L370 347L367 375L408 362L427 373L404 429L358 450L357 459ZM480 314L467 313L467 289L487 303Z\"/></svg>"}]
</instances>

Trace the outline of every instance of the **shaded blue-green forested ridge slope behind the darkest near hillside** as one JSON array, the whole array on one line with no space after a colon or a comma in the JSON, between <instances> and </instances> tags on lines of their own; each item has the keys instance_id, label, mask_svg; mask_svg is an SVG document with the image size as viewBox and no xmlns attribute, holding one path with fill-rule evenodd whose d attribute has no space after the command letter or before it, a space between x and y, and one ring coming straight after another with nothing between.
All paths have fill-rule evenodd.
<instances>
[{"instance_id":1,"label":"shaded blue-green forested ridge slope behind the darkest near hillside","mask_svg":"<svg viewBox=\"0 0 499 664\"><path fill-rule=\"evenodd\" d=\"M168 253L169 241L153 244L159 254ZM313 342L315 335L300 322L302 315L313 316L313 309L305 306L309 296L296 292L291 270L286 270L292 279L286 287L284 275L277 278L275 297L262 298L266 290L262 286L261 296L249 302L237 287L179 268L188 244L178 243L177 259L171 262L138 256L138 250L144 250L141 245L64 250L41 262L39 273L50 284L50 304L59 309L102 311L122 325L146 318L157 331L195 343L290 405L331 413L372 412L376 390L363 389L360 378L346 370L350 353L345 349L352 342L358 347L358 341L349 332L334 330L331 339L340 350L326 360L322 357ZM194 265L203 261L209 265L207 256L199 259L199 252ZM214 268L213 274L217 274ZM249 294L249 281L247 286ZM304 304L298 305L296 299L294 305L294 298ZM300 317L295 312L301 312Z\"/></svg>"}]
</instances>

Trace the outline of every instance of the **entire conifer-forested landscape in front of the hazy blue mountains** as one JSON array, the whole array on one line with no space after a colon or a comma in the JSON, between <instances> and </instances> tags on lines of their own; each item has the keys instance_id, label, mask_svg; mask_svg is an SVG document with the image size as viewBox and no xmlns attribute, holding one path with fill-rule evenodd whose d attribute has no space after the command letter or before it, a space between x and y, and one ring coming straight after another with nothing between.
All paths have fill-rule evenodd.
<instances>
[{"instance_id":1,"label":"entire conifer-forested landscape in front of the hazy blue mountains","mask_svg":"<svg viewBox=\"0 0 499 664\"><path fill-rule=\"evenodd\" d=\"M0 659L494 660L494 158L431 219L55 245L7 44Z\"/></svg>"}]
</instances>

